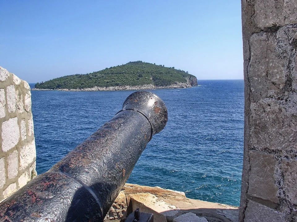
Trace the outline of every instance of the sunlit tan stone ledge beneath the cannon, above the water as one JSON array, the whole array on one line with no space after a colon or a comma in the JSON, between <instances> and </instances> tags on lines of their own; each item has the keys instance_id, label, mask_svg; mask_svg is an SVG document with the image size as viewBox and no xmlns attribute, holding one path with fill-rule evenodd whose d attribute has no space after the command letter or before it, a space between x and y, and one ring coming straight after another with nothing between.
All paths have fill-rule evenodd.
<instances>
[{"instance_id":1,"label":"sunlit tan stone ledge beneath the cannon, above the water","mask_svg":"<svg viewBox=\"0 0 297 222\"><path fill-rule=\"evenodd\" d=\"M126 203L123 203L123 194ZM140 211L153 213L154 222L187 221L190 218L205 222L238 222L239 212L235 206L189 199L183 192L127 183L110 208L105 222L124 221L137 207Z\"/></svg>"}]
</instances>

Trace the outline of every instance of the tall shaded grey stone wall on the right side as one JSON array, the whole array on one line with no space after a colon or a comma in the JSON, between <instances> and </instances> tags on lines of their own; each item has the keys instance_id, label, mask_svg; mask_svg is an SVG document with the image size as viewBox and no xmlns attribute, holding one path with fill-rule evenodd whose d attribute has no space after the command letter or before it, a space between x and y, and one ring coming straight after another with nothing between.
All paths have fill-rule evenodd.
<instances>
[{"instance_id":1,"label":"tall shaded grey stone wall on the right side","mask_svg":"<svg viewBox=\"0 0 297 222\"><path fill-rule=\"evenodd\" d=\"M297 221L297 2L242 0L242 24L239 221Z\"/></svg>"}]
</instances>

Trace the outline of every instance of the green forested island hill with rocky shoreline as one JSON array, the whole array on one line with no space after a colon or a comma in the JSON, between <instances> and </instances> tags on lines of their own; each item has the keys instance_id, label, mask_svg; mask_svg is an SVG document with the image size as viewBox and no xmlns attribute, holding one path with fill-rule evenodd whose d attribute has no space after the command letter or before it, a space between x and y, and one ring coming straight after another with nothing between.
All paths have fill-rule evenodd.
<instances>
[{"instance_id":1,"label":"green forested island hill with rocky shoreline","mask_svg":"<svg viewBox=\"0 0 297 222\"><path fill-rule=\"evenodd\" d=\"M164 87L176 83L197 85L195 76L174 67L164 67L148 62L128 62L121 66L105 68L93 73L67 75L42 83L36 89L84 89L94 87L120 87L153 85Z\"/></svg>"}]
</instances>

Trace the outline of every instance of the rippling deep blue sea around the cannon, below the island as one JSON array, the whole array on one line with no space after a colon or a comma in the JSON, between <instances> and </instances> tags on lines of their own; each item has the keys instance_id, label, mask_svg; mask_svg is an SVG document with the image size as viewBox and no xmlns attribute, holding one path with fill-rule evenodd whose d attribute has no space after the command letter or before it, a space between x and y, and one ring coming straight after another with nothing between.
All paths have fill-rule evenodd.
<instances>
[{"instance_id":1,"label":"rippling deep blue sea around the cannon, below the island","mask_svg":"<svg viewBox=\"0 0 297 222\"><path fill-rule=\"evenodd\" d=\"M198 80L198 85L150 90L165 102L168 122L149 142L128 182L239 206L243 80ZM110 120L132 92L32 91L37 173Z\"/></svg>"}]
</instances>

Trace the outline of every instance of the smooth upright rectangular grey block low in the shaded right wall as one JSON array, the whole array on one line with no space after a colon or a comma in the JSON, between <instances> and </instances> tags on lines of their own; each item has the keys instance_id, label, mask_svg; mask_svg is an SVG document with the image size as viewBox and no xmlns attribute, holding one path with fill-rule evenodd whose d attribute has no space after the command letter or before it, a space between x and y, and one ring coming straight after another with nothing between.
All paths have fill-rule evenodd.
<instances>
[{"instance_id":1,"label":"smooth upright rectangular grey block low in the shaded right wall","mask_svg":"<svg viewBox=\"0 0 297 222\"><path fill-rule=\"evenodd\" d=\"M278 203L278 187L275 184L277 160L272 154L249 151L250 172L248 194Z\"/></svg>"}]
</instances>

